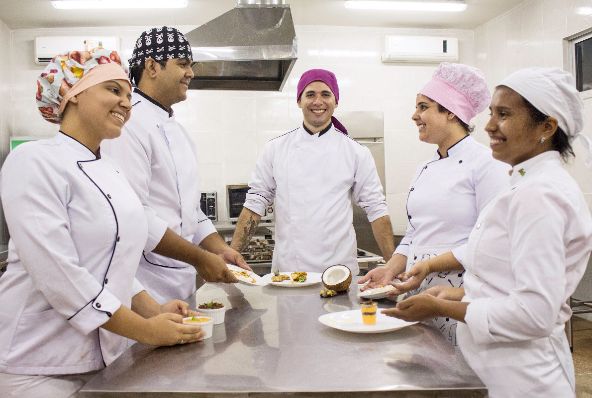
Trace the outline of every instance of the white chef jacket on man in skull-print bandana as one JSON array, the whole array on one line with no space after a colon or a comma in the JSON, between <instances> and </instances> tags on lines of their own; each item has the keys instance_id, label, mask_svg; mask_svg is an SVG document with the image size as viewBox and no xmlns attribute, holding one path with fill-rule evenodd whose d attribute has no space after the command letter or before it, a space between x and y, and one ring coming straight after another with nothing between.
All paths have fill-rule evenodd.
<instances>
[{"instance_id":1,"label":"white chef jacket on man in skull-print bandana","mask_svg":"<svg viewBox=\"0 0 592 398\"><path fill-rule=\"evenodd\" d=\"M131 118L121 136L104 141L101 150L134 182L144 205L155 209L176 234L198 245L216 230L200 208L195 144L174 115L137 88L131 103ZM146 251L136 277L163 304L192 295L195 275L187 263Z\"/></svg>"}]
</instances>

